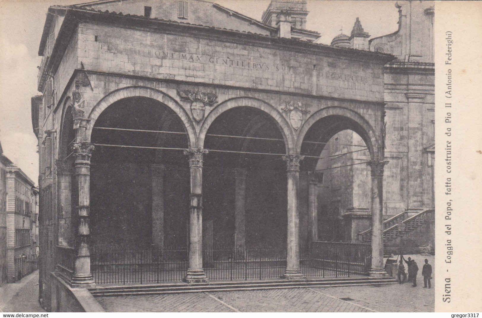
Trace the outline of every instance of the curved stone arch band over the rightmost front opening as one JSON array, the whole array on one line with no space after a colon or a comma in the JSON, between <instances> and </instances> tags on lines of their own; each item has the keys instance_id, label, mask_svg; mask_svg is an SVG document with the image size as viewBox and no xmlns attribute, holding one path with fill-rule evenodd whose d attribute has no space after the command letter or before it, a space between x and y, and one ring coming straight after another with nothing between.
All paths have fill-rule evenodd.
<instances>
[{"instance_id":1,"label":"curved stone arch band over the rightmost front opening","mask_svg":"<svg viewBox=\"0 0 482 318\"><path fill-rule=\"evenodd\" d=\"M300 128L298 138L296 139L297 154L301 152L301 144L303 143L303 139L305 138L308 129L320 119L328 116L338 116L348 119L353 124L353 126L347 127L346 129L351 129L355 131L358 135L360 135L360 137L363 139L366 146L368 147L371 159L383 159L383 153L380 152L381 143L379 138L377 137L377 134L375 133L375 130L373 129L373 126L356 111L352 111L348 108L338 106L323 108L313 113L307 119L307 121Z\"/></svg>"}]
</instances>

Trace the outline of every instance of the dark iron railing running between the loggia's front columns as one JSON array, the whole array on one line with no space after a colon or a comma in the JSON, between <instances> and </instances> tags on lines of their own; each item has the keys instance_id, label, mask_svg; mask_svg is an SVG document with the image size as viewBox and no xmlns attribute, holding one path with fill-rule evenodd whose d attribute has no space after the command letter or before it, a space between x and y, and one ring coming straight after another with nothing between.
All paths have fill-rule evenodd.
<instances>
[{"instance_id":1,"label":"dark iron railing running between the loggia's front columns","mask_svg":"<svg viewBox=\"0 0 482 318\"><path fill-rule=\"evenodd\" d=\"M367 275L371 249L368 244L313 242L300 251L306 277ZM279 278L286 268L286 249L203 250L203 266L210 280ZM91 270L97 284L144 284L181 281L187 273L187 248L117 249L94 246Z\"/></svg>"}]
</instances>

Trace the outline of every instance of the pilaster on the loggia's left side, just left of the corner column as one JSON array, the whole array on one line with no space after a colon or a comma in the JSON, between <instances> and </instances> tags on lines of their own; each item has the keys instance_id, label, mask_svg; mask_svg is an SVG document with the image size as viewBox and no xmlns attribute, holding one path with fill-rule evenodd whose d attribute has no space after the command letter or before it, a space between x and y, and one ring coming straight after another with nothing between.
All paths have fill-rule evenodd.
<instances>
[{"instance_id":1,"label":"pilaster on the loggia's left side, just left of the corner column","mask_svg":"<svg viewBox=\"0 0 482 318\"><path fill-rule=\"evenodd\" d=\"M72 161L57 160L58 245L74 247L72 229Z\"/></svg>"}]
</instances>

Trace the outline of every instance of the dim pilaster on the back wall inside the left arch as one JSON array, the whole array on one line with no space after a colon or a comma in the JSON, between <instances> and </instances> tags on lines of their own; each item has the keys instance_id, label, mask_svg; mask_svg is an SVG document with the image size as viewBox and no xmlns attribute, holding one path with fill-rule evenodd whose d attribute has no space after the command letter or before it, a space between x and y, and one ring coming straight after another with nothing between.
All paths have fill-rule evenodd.
<instances>
[{"instance_id":1,"label":"dim pilaster on the back wall inside the left arch","mask_svg":"<svg viewBox=\"0 0 482 318\"><path fill-rule=\"evenodd\" d=\"M164 169L153 164L152 171L152 245L164 248Z\"/></svg>"}]
</instances>

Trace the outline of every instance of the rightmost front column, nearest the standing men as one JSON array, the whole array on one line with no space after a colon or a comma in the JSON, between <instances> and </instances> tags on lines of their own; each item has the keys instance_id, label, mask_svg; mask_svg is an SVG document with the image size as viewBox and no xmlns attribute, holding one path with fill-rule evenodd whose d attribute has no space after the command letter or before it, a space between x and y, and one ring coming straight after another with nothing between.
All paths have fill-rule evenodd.
<instances>
[{"instance_id":1,"label":"rightmost front column, nearest the standing men","mask_svg":"<svg viewBox=\"0 0 482 318\"><path fill-rule=\"evenodd\" d=\"M381 277L387 274L383 264L383 168L388 161L372 160L372 267L369 274Z\"/></svg>"}]
</instances>

